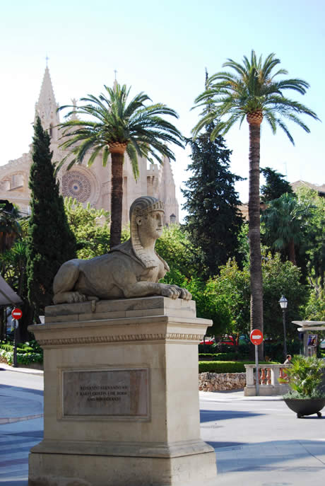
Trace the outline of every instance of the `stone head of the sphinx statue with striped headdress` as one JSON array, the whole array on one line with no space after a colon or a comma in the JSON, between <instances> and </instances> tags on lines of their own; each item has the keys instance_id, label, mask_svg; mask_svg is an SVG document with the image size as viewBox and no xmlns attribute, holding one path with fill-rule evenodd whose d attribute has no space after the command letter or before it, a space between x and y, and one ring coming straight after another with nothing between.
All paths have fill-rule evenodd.
<instances>
[{"instance_id":1,"label":"stone head of the sphinx statue with striped headdress","mask_svg":"<svg viewBox=\"0 0 325 486\"><path fill-rule=\"evenodd\" d=\"M138 197L130 207L131 244L136 256L146 267L153 265L148 241L162 235L164 203L152 196Z\"/></svg>"}]
</instances>

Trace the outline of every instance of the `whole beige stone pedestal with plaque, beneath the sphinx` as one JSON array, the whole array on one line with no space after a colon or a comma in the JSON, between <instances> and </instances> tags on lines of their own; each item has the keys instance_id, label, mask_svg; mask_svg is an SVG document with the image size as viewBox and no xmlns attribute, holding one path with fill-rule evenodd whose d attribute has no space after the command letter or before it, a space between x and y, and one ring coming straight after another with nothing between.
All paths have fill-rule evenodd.
<instances>
[{"instance_id":1,"label":"whole beige stone pedestal with plaque, beneath the sphinx","mask_svg":"<svg viewBox=\"0 0 325 486\"><path fill-rule=\"evenodd\" d=\"M216 475L200 439L195 302L153 296L46 308L44 440L30 486L167 486Z\"/></svg>"}]
</instances>

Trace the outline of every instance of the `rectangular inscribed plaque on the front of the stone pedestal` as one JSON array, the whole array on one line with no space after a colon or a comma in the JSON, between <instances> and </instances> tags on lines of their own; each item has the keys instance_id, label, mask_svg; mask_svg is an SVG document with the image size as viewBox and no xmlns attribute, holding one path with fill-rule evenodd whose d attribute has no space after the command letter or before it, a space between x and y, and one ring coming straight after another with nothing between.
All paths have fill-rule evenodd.
<instances>
[{"instance_id":1,"label":"rectangular inscribed plaque on the front of the stone pedestal","mask_svg":"<svg viewBox=\"0 0 325 486\"><path fill-rule=\"evenodd\" d=\"M63 371L63 416L148 417L148 369Z\"/></svg>"}]
</instances>

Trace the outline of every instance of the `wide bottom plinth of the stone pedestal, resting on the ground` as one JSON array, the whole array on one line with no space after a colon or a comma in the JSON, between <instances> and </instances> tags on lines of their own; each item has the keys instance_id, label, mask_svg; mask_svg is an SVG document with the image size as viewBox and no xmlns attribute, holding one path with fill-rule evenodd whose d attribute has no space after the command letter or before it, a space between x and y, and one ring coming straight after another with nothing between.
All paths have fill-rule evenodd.
<instances>
[{"instance_id":1,"label":"wide bottom plinth of the stone pedestal, resting on the ground","mask_svg":"<svg viewBox=\"0 0 325 486\"><path fill-rule=\"evenodd\" d=\"M28 486L189 486L215 473L214 451L174 458L32 453Z\"/></svg>"}]
</instances>

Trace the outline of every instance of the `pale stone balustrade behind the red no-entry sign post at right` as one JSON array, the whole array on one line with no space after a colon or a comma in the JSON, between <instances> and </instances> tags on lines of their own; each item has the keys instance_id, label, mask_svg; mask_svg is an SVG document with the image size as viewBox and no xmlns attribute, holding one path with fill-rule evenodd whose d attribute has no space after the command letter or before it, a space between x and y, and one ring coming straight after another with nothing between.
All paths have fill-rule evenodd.
<instances>
[{"instance_id":1,"label":"pale stone balustrade behind the red no-entry sign post at right","mask_svg":"<svg viewBox=\"0 0 325 486\"><path fill-rule=\"evenodd\" d=\"M255 364L244 364L246 369L245 396L256 395ZM288 392L288 383L279 383L278 378L285 378L285 369L290 364L259 364L259 395L284 395Z\"/></svg>"}]
</instances>

